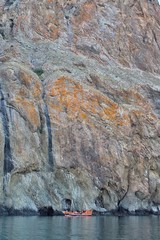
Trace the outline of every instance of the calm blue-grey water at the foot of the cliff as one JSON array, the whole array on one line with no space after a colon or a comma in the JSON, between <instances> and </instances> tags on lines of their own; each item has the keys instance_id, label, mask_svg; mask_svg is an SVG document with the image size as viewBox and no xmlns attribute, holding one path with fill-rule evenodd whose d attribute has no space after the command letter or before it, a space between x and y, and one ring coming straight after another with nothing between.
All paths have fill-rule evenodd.
<instances>
[{"instance_id":1,"label":"calm blue-grey water at the foot of the cliff","mask_svg":"<svg viewBox=\"0 0 160 240\"><path fill-rule=\"evenodd\" d=\"M0 240L160 240L160 217L0 217Z\"/></svg>"}]
</instances>

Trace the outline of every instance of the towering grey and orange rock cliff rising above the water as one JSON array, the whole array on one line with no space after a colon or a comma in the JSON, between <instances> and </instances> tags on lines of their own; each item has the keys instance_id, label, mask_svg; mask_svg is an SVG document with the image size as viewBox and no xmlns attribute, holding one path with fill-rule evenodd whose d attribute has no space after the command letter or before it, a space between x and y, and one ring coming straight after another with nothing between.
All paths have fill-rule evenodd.
<instances>
[{"instance_id":1,"label":"towering grey and orange rock cliff rising above the water","mask_svg":"<svg viewBox=\"0 0 160 240\"><path fill-rule=\"evenodd\" d=\"M158 1L0 3L0 205L160 208Z\"/></svg>"}]
</instances>

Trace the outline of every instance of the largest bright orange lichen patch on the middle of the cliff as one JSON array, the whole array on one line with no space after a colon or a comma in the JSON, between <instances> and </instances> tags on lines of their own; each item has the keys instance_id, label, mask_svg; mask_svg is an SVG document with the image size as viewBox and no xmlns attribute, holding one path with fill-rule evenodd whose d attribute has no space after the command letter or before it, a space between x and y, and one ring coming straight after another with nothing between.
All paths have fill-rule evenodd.
<instances>
[{"instance_id":1,"label":"largest bright orange lichen patch on the middle of the cliff","mask_svg":"<svg viewBox=\"0 0 160 240\"><path fill-rule=\"evenodd\" d=\"M48 86L47 96L51 119L57 124L63 125L76 119L92 126L96 121L99 124L110 121L115 127L129 124L125 110L122 110L122 117L118 104L100 92L82 86L72 79L65 77L57 79L53 85Z\"/></svg>"}]
</instances>

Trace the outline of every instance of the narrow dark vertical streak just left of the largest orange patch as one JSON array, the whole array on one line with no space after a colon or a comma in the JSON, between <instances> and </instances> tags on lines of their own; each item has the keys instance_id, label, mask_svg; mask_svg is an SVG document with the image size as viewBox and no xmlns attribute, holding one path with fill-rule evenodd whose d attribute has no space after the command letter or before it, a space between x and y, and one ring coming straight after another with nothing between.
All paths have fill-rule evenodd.
<instances>
[{"instance_id":1,"label":"narrow dark vertical streak just left of the largest orange patch","mask_svg":"<svg viewBox=\"0 0 160 240\"><path fill-rule=\"evenodd\" d=\"M45 101L44 88L43 88L42 98L43 98L43 102L44 102L44 114L45 114L45 118L46 118L46 125L47 125L47 131L48 131L48 163L49 163L50 170L53 171L55 158L54 158L54 154L53 154L52 128L51 128L51 120L50 120L50 116L49 116L48 106Z\"/></svg>"}]
</instances>

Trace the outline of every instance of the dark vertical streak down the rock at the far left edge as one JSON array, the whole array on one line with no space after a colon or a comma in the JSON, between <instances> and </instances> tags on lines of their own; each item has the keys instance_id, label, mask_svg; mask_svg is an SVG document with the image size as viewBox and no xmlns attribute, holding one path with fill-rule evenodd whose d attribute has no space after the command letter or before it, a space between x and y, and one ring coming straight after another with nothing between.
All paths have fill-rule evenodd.
<instances>
[{"instance_id":1,"label":"dark vertical streak down the rock at the far left edge","mask_svg":"<svg viewBox=\"0 0 160 240\"><path fill-rule=\"evenodd\" d=\"M12 162L12 153L11 153L11 145L10 145L10 132L9 132L9 119L7 115L7 109L5 106L4 95L2 92L2 88L0 85L0 111L2 114L2 123L3 123L3 130L4 130L4 137L5 137L5 144L4 144L4 176L7 173L10 173L14 168Z\"/></svg>"}]
</instances>

